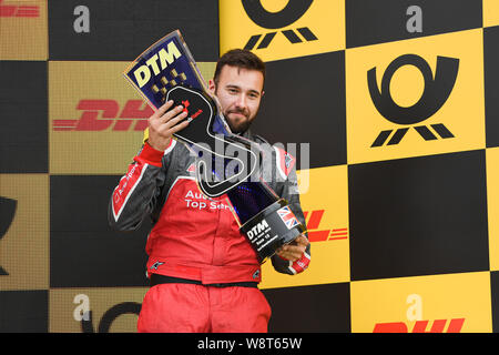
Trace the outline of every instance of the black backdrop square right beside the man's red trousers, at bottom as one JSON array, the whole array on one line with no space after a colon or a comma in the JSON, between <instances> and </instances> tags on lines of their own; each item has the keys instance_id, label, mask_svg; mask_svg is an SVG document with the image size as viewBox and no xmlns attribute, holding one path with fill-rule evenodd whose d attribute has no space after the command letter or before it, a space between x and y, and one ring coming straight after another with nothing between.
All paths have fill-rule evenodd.
<instances>
[{"instance_id":1,"label":"black backdrop square right beside the man's red trousers, at bottom","mask_svg":"<svg viewBox=\"0 0 499 355\"><path fill-rule=\"evenodd\" d=\"M271 333L349 333L349 283L262 290Z\"/></svg>"}]
</instances>

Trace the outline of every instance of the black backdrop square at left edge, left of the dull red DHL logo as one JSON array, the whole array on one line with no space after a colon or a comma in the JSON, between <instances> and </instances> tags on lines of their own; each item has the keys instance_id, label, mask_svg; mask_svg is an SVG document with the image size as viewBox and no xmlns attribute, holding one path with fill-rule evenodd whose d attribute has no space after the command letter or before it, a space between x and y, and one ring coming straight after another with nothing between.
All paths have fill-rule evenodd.
<instances>
[{"instance_id":1,"label":"black backdrop square at left edge, left of the dull red DHL logo","mask_svg":"<svg viewBox=\"0 0 499 355\"><path fill-rule=\"evenodd\" d=\"M47 62L0 61L0 173L47 173Z\"/></svg>"}]
</instances>

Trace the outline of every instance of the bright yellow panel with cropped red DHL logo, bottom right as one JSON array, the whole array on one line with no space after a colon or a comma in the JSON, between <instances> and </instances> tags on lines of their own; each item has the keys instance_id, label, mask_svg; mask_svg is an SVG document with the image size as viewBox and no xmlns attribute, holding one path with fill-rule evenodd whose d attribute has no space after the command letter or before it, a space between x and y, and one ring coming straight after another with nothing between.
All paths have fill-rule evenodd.
<instances>
[{"instance_id":1,"label":"bright yellow panel with cropped red DHL logo, bottom right","mask_svg":"<svg viewBox=\"0 0 499 355\"><path fill-rule=\"evenodd\" d=\"M353 333L490 333L489 272L350 284Z\"/></svg>"}]
</instances>

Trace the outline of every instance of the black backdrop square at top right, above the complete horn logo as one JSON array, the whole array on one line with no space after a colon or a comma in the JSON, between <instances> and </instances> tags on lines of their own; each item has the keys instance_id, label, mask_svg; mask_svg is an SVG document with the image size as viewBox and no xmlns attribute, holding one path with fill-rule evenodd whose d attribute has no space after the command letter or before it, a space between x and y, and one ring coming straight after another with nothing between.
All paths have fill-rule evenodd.
<instances>
[{"instance_id":1,"label":"black backdrop square at top right, above the complete horn logo","mask_svg":"<svg viewBox=\"0 0 499 355\"><path fill-rule=\"evenodd\" d=\"M407 22L420 9L421 32L407 30ZM347 48L398 41L480 28L481 1L476 0L347 0ZM409 22L411 24L411 22Z\"/></svg>"}]
</instances>

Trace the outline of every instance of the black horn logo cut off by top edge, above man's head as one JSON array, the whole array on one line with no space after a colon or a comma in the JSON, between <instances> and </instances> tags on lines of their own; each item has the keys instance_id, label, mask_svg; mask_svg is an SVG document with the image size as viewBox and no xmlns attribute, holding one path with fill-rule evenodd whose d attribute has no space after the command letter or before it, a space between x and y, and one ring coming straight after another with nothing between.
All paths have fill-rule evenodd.
<instances>
[{"instance_id":1,"label":"black horn logo cut off by top edge, above man's head","mask_svg":"<svg viewBox=\"0 0 499 355\"><path fill-rule=\"evenodd\" d=\"M313 0L289 0L284 9L279 12L268 12L262 6L261 0L242 0L244 11L246 11L249 19L257 26L269 30L282 29L296 22L301 17L305 14L305 12L307 12ZM305 41L317 40L317 37L308 27L298 28L296 29L296 31L302 34ZM302 38L299 38L299 36L293 29L283 30L281 32L292 44L303 42ZM276 34L277 31L266 33L256 49L267 48ZM254 49L262 36L263 34L252 36L246 42L244 49Z\"/></svg>"}]
</instances>

